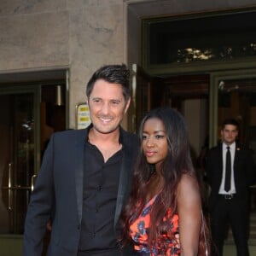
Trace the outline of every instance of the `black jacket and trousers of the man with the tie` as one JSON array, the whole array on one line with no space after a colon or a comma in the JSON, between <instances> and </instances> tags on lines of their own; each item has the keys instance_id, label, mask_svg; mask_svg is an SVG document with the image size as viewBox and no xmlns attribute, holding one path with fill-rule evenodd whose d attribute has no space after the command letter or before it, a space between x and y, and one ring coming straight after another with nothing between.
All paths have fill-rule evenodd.
<instances>
[{"instance_id":1,"label":"black jacket and trousers of the man with the tie","mask_svg":"<svg viewBox=\"0 0 256 256\"><path fill-rule=\"evenodd\" d=\"M223 175L222 144L210 149L207 154L206 163L207 182L211 187L209 212L212 239L216 243L218 251L222 251L221 248L223 247L225 235L224 226L229 220L232 230L236 230L236 234L233 234L236 246L245 248L245 251L238 255L247 255L247 236L242 236L242 234L245 233L243 230L247 230L248 224L248 189L255 182L256 176L252 151L249 148L236 144L234 159L236 194L231 199L225 199L224 195L218 194ZM222 255L222 253L219 255Z\"/></svg>"}]
</instances>

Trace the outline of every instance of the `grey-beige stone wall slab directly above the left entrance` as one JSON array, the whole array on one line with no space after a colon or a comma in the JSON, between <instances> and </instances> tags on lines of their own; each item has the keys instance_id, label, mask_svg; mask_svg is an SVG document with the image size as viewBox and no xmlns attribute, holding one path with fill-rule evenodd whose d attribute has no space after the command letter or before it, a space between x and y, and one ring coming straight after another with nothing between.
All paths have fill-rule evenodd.
<instances>
[{"instance_id":1,"label":"grey-beige stone wall slab directly above the left entrance","mask_svg":"<svg viewBox=\"0 0 256 256\"><path fill-rule=\"evenodd\" d=\"M68 64L69 15L62 6L66 1L1 2L1 73Z\"/></svg>"}]
</instances>

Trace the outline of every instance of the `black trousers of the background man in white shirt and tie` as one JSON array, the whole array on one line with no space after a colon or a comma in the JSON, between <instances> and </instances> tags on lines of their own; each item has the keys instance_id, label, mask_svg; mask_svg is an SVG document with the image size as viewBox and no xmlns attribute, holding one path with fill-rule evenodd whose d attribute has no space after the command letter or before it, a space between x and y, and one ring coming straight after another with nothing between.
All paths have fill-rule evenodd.
<instances>
[{"instance_id":1,"label":"black trousers of the background man in white shirt and tie","mask_svg":"<svg viewBox=\"0 0 256 256\"><path fill-rule=\"evenodd\" d=\"M223 256L227 224L230 224L236 243L237 256L248 256L248 203L236 195L227 199L218 195L218 200L210 208L212 230L212 256Z\"/></svg>"}]
</instances>

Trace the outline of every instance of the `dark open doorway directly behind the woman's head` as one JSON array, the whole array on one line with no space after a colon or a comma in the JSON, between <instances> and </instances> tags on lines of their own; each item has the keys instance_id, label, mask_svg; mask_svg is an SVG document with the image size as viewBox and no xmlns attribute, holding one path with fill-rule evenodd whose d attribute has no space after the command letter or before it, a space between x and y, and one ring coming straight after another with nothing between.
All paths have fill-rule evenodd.
<instances>
[{"instance_id":1,"label":"dark open doorway directly behind the woman's head","mask_svg":"<svg viewBox=\"0 0 256 256\"><path fill-rule=\"evenodd\" d=\"M132 102L129 125L137 131L143 114L152 108L175 108L189 127L191 155L196 169L204 175L204 156L209 141L208 74L152 77L142 67L132 65ZM129 127L130 128L130 127Z\"/></svg>"}]
</instances>

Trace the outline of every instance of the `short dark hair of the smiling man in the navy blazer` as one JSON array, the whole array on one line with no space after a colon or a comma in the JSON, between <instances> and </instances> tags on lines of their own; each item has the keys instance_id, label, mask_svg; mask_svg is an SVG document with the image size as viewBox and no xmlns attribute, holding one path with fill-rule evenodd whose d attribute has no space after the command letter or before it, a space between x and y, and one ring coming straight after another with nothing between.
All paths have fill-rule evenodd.
<instances>
[{"instance_id":1,"label":"short dark hair of the smiling man in the navy blazer","mask_svg":"<svg viewBox=\"0 0 256 256\"><path fill-rule=\"evenodd\" d=\"M103 79L111 84L121 84L123 95L125 96L125 102L131 96L130 92L130 82L129 82L130 72L125 64L122 65L106 65L100 67L90 78L86 87L86 96L89 98L90 93L93 90L96 80Z\"/></svg>"}]
</instances>

